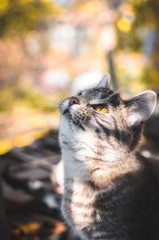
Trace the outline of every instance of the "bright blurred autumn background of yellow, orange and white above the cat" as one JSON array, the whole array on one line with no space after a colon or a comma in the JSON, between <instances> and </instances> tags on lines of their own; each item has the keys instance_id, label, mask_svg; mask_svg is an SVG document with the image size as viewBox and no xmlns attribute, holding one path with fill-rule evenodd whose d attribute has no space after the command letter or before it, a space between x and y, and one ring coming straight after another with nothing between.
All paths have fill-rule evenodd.
<instances>
[{"instance_id":1,"label":"bright blurred autumn background of yellow, orange and white above the cat","mask_svg":"<svg viewBox=\"0 0 159 240\"><path fill-rule=\"evenodd\" d=\"M125 97L158 91L158 0L0 0L0 154L58 132L77 77L107 71Z\"/></svg>"}]
</instances>

